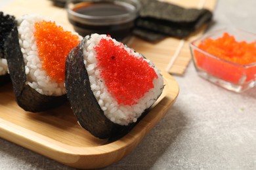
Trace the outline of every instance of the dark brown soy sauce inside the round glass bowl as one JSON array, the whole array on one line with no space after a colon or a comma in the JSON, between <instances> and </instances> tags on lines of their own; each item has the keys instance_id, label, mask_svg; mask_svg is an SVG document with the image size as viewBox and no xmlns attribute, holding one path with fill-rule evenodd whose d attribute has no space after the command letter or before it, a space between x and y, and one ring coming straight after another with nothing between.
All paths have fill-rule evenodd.
<instances>
[{"instance_id":1,"label":"dark brown soy sauce inside the round glass bowl","mask_svg":"<svg viewBox=\"0 0 256 170\"><path fill-rule=\"evenodd\" d=\"M91 33L99 33L123 41L125 37L131 35L135 18L129 16L134 10L129 4L83 2L76 4L72 10L81 15L81 18L69 17L69 20L74 25L75 31L83 37Z\"/></svg>"}]
</instances>

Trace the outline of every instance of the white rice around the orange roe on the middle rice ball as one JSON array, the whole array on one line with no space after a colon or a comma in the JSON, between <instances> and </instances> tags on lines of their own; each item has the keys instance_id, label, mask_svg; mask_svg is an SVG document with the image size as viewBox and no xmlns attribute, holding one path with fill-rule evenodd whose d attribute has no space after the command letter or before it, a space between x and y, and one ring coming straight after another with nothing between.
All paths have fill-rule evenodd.
<instances>
[{"instance_id":1,"label":"white rice around the orange roe on the middle rice ball","mask_svg":"<svg viewBox=\"0 0 256 170\"><path fill-rule=\"evenodd\" d=\"M18 18L18 35L25 62L26 84L43 95L63 95L66 93L64 82L58 83L47 75L47 72L42 69L42 64L38 57L36 39L33 36L35 32L34 24L43 20L51 21L49 18L44 18L39 14L27 14ZM78 35L77 33L74 34Z\"/></svg>"}]
</instances>

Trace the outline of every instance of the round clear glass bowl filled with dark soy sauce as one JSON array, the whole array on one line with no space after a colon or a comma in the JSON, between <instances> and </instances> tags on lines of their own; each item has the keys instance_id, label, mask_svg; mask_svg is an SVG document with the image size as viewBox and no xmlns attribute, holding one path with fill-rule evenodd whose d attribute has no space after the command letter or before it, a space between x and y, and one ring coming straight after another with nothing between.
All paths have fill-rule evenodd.
<instances>
[{"instance_id":1,"label":"round clear glass bowl filled with dark soy sauce","mask_svg":"<svg viewBox=\"0 0 256 170\"><path fill-rule=\"evenodd\" d=\"M69 0L68 20L79 35L107 34L124 41L132 33L139 16L137 0Z\"/></svg>"}]
</instances>

